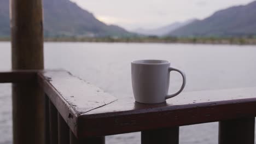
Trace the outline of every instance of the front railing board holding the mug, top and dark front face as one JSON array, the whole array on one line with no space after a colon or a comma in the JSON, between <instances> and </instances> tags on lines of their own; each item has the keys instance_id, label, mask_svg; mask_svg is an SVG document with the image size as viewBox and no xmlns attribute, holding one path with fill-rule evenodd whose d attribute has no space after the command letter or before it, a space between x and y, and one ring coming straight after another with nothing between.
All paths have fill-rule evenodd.
<instances>
[{"instance_id":1,"label":"front railing board holding the mug, top and dark front face","mask_svg":"<svg viewBox=\"0 0 256 144\"><path fill-rule=\"evenodd\" d=\"M113 135L255 117L255 109L255 87L184 92L156 105L135 103L131 96L84 113L79 117L79 134Z\"/></svg>"}]
</instances>

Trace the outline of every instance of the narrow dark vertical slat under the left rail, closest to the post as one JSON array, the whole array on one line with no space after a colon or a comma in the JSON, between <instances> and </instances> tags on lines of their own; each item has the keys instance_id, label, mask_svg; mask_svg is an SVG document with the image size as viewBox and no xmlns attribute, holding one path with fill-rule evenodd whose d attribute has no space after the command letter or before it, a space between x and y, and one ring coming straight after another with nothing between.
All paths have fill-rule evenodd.
<instances>
[{"instance_id":1,"label":"narrow dark vertical slat under the left rail, closest to the post","mask_svg":"<svg viewBox=\"0 0 256 144\"><path fill-rule=\"evenodd\" d=\"M44 95L44 143L50 143L49 98Z\"/></svg>"}]
</instances>

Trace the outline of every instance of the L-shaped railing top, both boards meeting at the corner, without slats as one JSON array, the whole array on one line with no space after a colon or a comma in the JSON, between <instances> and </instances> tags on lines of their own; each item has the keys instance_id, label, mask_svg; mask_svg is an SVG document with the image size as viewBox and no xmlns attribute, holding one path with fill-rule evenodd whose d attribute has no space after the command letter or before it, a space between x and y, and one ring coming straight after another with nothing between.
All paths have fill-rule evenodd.
<instances>
[{"instance_id":1,"label":"L-shaped railing top, both boards meeting at the corner, without slats","mask_svg":"<svg viewBox=\"0 0 256 144\"><path fill-rule=\"evenodd\" d=\"M255 87L184 92L147 105L132 95L116 100L66 71L41 73L39 83L79 138L256 116Z\"/></svg>"}]
</instances>

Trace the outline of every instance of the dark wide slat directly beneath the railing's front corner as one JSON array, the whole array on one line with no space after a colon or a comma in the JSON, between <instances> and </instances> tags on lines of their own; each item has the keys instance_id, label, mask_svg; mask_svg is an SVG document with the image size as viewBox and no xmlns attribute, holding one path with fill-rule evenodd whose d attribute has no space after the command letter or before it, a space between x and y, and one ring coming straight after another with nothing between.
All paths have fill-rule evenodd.
<instances>
[{"instance_id":1,"label":"dark wide slat directly beneath the railing's front corner","mask_svg":"<svg viewBox=\"0 0 256 144\"><path fill-rule=\"evenodd\" d=\"M105 137L87 137L85 139L77 139L73 132L70 130L70 144L104 144L105 143Z\"/></svg>"}]
</instances>

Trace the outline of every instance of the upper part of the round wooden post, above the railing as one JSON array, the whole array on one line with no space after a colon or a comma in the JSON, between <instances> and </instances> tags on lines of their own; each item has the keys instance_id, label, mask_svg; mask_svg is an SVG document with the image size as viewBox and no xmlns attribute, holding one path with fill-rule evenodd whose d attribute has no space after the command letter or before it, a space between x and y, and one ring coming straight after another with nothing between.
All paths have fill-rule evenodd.
<instances>
[{"instance_id":1,"label":"upper part of the round wooden post, above the railing","mask_svg":"<svg viewBox=\"0 0 256 144\"><path fill-rule=\"evenodd\" d=\"M14 70L44 69L42 0L10 0Z\"/></svg>"}]
</instances>

